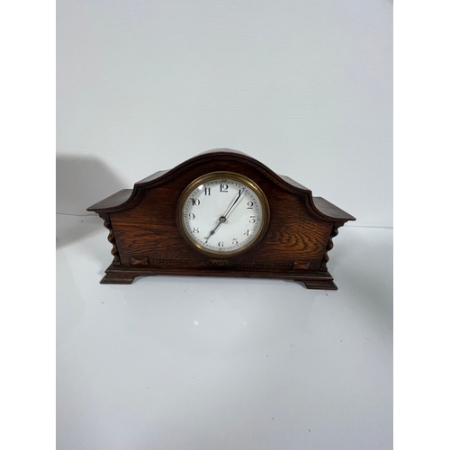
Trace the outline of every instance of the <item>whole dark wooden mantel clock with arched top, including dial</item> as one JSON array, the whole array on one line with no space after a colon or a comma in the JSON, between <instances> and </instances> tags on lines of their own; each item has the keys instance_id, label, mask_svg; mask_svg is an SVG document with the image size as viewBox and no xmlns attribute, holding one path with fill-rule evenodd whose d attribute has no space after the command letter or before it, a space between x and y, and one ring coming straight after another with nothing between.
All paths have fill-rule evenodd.
<instances>
[{"instance_id":1,"label":"whole dark wooden mantel clock with arched top, including dial","mask_svg":"<svg viewBox=\"0 0 450 450\"><path fill-rule=\"evenodd\" d=\"M103 284L140 275L281 278L338 289L327 269L347 212L256 159L211 150L95 203L113 261Z\"/></svg>"}]
</instances>

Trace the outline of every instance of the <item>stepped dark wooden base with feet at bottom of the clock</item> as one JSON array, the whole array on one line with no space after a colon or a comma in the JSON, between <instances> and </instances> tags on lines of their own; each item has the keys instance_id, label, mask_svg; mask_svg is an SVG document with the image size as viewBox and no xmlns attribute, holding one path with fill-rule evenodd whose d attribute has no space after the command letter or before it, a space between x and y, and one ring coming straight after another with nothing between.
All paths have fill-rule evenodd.
<instances>
[{"instance_id":1,"label":"stepped dark wooden base with feet at bottom of the clock","mask_svg":"<svg viewBox=\"0 0 450 450\"><path fill-rule=\"evenodd\" d=\"M193 275L192 271L184 268L156 268L148 266L116 266L111 265L105 270L101 284L131 284L137 276L148 275ZM239 270L221 270L205 269L195 273L196 276L237 276L243 278L272 278L281 280L293 280L304 284L307 289L337 290L338 286L333 283L333 277L328 271L324 272L298 272L293 274L289 272L263 272L263 271L239 271Z\"/></svg>"}]
</instances>

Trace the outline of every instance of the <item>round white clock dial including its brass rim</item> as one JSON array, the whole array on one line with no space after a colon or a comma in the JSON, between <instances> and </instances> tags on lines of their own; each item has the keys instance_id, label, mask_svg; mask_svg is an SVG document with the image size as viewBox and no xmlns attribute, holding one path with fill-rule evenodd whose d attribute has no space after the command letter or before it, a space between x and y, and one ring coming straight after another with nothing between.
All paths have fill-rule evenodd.
<instances>
[{"instance_id":1,"label":"round white clock dial including its brass rim","mask_svg":"<svg viewBox=\"0 0 450 450\"><path fill-rule=\"evenodd\" d=\"M246 176L211 172L184 189L177 219L193 246L211 256L230 257L263 237L269 206L263 191Z\"/></svg>"}]
</instances>

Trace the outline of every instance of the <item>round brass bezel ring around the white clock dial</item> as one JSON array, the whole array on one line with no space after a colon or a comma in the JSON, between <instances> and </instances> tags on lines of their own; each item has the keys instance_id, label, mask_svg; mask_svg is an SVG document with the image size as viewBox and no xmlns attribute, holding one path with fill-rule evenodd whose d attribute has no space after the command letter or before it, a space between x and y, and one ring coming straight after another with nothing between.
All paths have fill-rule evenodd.
<instances>
[{"instance_id":1,"label":"round brass bezel ring around the white clock dial","mask_svg":"<svg viewBox=\"0 0 450 450\"><path fill-rule=\"evenodd\" d=\"M238 183L247 185L248 188L252 189L254 193L257 194L257 197L260 202L260 206L262 209L262 224L257 232L257 237L254 238L252 241L250 241L245 247L240 247L235 251L229 251L229 252L222 252L222 251L214 251L209 248L202 247L202 245L197 242L196 240L193 240L191 238L190 234L186 231L184 227L184 220L183 220L183 211L184 211L184 203L187 201L187 199L191 196L191 193L195 189L195 187L199 184L204 184L207 182L210 182L212 180L217 180L220 178L229 179L236 181ZM195 178L193 182L188 184L185 188L183 193L181 193L180 198L178 199L178 203L176 205L176 224L178 225L178 229L180 229L182 236L184 239L193 247L195 247L197 250L202 252L204 255L208 255L210 257L223 257L223 258L229 258L229 257L236 257L238 255L241 255L242 253L247 252L250 248L254 247L260 240L263 238L263 236L266 234L267 227L269 225L270 220L270 208L269 208L269 202L267 201L266 194L263 192L263 190L250 178L248 178L245 175L238 174L236 172L229 172L229 171L218 171L218 172L210 172L208 174L199 176L198 178Z\"/></svg>"}]
</instances>

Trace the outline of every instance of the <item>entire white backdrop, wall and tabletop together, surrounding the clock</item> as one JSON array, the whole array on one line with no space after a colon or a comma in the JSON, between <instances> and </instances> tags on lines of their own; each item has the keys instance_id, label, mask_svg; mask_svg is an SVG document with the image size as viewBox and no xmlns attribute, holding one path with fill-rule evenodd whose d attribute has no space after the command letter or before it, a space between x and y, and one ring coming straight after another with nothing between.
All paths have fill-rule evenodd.
<instances>
[{"instance_id":1,"label":"entire white backdrop, wall and tabletop together, surrounding the clock","mask_svg":"<svg viewBox=\"0 0 450 450\"><path fill-rule=\"evenodd\" d=\"M99 284L85 208L211 148L356 216L338 292ZM392 3L59 1L56 175L59 450L392 447Z\"/></svg>"}]
</instances>

